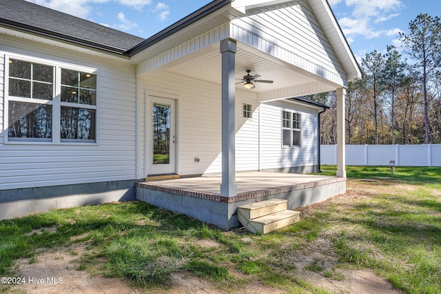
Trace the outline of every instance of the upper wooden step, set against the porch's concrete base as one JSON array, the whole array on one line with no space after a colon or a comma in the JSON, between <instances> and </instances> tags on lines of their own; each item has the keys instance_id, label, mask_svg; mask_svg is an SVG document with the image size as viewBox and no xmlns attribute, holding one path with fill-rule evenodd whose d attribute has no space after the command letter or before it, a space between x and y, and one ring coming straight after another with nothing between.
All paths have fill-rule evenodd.
<instances>
[{"instance_id":1,"label":"upper wooden step, set against the porch's concrete base","mask_svg":"<svg viewBox=\"0 0 441 294\"><path fill-rule=\"evenodd\" d=\"M240 219L247 222L249 219L255 219L256 217L262 217L263 215L269 215L280 210L285 210L287 209L287 203L288 201L285 199L269 199L239 206L237 208L239 222L242 223Z\"/></svg>"}]
</instances>

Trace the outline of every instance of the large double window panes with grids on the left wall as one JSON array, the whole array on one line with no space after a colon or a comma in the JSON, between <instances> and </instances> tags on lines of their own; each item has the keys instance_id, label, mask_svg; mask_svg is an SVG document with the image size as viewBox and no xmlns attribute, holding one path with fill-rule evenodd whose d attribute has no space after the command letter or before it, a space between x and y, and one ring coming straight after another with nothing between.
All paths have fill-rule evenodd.
<instances>
[{"instance_id":1,"label":"large double window panes with grids on the left wall","mask_svg":"<svg viewBox=\"0 0 441 294\"><path fill-rule=\"evenodd\" d=\"M9 141L96 141L96 75L9 59Z\"/></svg>"}]
</instances>

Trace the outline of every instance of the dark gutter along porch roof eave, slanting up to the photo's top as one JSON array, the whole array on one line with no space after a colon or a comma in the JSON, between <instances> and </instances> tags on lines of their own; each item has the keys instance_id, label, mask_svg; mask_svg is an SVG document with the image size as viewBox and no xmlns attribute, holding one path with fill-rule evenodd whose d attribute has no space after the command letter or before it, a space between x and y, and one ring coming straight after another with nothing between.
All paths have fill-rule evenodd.
<instances>
[{"instance_id":1,"label":"dark gutter along porch roof eave, slanting up to the photo's top","mask_svg":"<svg viewBox=\"0 0 441 294\"><path fill-rule=\"evenodd\" d=\"M150 46L153 46L154 44L162 41L163 39L170 37L174 33L183 30L183 28L186 28L187 26L192 25L196 21L199 21L204 17L207 17L209 14L212 14L216 10L219 10L224 6L231 4L233 1L234 0L214 0L208 3L206 6L203 6L203 8L196 10L192 14L187 15L187 17L184 17L183 19L176 21L176 23L173 23L172 26L169 26L168 28L161 30L161 32L158 32L152 37L145 39L138 45L135 45L134 47L130 48L129 50L127 50L127 52L125 52L125 54L128 55L129 57L133 57L134 55L138 54L145 48L149 48Z\"/></svg>"}]
</instances>

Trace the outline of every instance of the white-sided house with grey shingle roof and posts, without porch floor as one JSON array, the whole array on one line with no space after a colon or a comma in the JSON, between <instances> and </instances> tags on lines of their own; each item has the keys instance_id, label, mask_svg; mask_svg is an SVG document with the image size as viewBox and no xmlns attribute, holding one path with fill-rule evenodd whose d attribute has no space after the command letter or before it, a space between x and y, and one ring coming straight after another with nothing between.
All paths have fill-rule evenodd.
<instances>
[{"instance_id":1,"label":"white-sided house with grey shingle roof and posts, without porch floor","mask_svg":"<svg viewBox=\"0 0 441 294\"><path fill-rule=\"evenodd\" d=\"M215 0L149 39L1 0L0 219L134 199L150 175L222 173L234 197L238 171L315 171L326 107L300 97L332 90L344 179L360 76L326 0Z\"/></svg>"}]
</instances>

